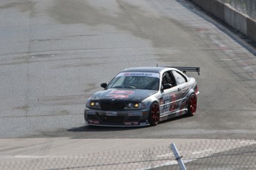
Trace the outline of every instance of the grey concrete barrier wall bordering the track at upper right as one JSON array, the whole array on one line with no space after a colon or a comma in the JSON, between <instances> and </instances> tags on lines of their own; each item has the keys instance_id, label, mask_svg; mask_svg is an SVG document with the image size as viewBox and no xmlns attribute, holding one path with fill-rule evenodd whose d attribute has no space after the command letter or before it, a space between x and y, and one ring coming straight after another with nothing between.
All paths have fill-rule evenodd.
<instances>
[{"instance_id":1,"label":"grey concrete barrier wall bordering the track at upper right","mask_svg":"<svg viewBox=\"0 0 256 170\"><path fill-rule=\"evenodd\" d=\"M256 41L256 21L219 0L191 0L204 10Z\"/></svg>"}]
</instances>

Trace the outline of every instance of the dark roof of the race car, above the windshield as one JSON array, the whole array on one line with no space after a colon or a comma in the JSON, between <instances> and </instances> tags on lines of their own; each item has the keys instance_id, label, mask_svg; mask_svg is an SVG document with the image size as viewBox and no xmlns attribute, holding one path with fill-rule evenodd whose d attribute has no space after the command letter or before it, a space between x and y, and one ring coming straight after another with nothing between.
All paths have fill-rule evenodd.
<instances>
[{"instance_id":1,"label":"dark roof of the race car, above the windshield","mask_svg":"<svg viewBox=\"0 0 256 170\"><path fill-rule=\"evenodd\" d=\"M122 70L122 72L163 72L165 70L170 70L170 67L134 67Z\"/></svg>"}]
</instances>

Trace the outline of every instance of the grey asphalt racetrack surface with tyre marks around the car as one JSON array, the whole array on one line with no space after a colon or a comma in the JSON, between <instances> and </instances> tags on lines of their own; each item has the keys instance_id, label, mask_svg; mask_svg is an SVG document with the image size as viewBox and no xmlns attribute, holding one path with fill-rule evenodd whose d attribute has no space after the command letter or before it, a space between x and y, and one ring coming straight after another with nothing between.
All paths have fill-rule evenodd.
<instances>
[{"instance_id":1,"label":"grey asphalt racetrack surface with tyre marks around the car","mask_svg":"<svg viewBox=\"0 0 256 170\"><path fill-rule=\"evenodd\" d=\"M0 1L0 137L254 138L255 47L189 1ZM90 127L85 101L128 67L200 67L197 114Z\"/></svg>"}]
</instances>

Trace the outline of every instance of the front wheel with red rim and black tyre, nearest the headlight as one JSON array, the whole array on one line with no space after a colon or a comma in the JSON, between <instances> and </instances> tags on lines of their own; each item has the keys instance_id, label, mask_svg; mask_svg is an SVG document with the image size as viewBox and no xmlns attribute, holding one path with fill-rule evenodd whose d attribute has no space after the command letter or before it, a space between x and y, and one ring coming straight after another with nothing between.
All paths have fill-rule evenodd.
<instances>
[{"instance_id":1,"label":"front wheel with red rim and black tyre, nearest the headlight","mask_svg":"<svg viewBox=\"0 0 256 170\"><path fill-rule=\"evenodd\" d=\"M151 104L148 117L151 126L156 126L160 122L160 107L157 102Z\"/></svg>"}]
</instances>

